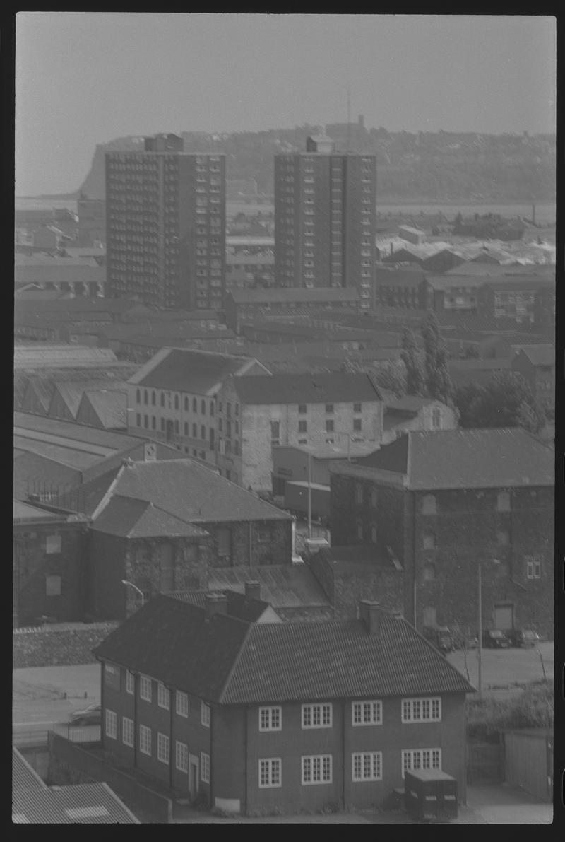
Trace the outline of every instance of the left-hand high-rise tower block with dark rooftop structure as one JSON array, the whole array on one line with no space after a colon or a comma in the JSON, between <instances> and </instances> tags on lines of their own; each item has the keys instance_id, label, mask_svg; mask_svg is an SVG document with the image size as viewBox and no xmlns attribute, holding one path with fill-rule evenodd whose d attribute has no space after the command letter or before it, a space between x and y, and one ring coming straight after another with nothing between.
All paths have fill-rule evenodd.
<instances>
[{"instance_id":1,"label":"left-hand high-rise tower block with dark rooftop structure","mask_svg":"<svg viewBox=\"0 0 565 842\"><path fill-rule=\"evenodd\" d=\"M106 153L108 296L161 307L219 309L224 296L225 156L145 138L144 152Z\"/></svg>"}]
</instances>

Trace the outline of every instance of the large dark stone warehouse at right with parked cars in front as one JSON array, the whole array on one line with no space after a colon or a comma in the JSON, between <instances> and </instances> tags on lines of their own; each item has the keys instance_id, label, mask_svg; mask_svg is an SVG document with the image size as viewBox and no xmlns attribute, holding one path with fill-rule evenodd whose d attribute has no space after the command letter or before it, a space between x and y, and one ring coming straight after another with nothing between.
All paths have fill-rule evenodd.
<instances>
[{"instance_id":1,"label":"large dark stone warehouse at right with parked cars in front","mask_svg":"<svg viewBox=\"0 0 565 842\"><path fill-rule=\"evenodd\" d=\"M330 477L333 546L372 544L405 571L404 616L552 636L554 455L522 429L409 432Z\"/></svg>"}]
</instances>

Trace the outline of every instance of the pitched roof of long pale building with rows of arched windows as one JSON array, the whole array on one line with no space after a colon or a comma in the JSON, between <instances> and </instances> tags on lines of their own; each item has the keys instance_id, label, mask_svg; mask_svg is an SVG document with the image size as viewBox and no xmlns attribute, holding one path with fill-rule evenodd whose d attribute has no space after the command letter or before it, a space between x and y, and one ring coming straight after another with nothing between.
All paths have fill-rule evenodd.
<instances>
[{"instance_id":1,"label":"pitched roof of long pale building with rows of arched windows","mask_svg":"<svg viewBox=\"0 0 565 842\"><path fill-rule=\"evenodd\" d=\"M158 358L158 359L157 359ZM212 351L164 348L130 380L138 386L155 386L207 395L230 374L250 367L252 357L215 354Z\"/></svg>"}]
</instances>

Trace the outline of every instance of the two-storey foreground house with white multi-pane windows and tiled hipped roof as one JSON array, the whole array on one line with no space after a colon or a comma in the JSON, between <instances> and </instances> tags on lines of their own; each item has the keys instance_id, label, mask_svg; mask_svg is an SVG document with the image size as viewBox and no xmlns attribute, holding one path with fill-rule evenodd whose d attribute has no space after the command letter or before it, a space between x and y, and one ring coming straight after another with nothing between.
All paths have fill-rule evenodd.
<instances>
[{"instance_id":1,"label":"two-storey foreground house with white multi-pane windows and tiled hipped roof","mask_svg":"<svg viewBox=\"0 0 565 842\"><path fill-rule=\"evenodd\" d=\"M379 805L410 769L453 775L464 802L473 688L412 626L368 602L306 623L253 603L159 596L112 632L103 749L233 813Z\"/></svg>"}]
</instances>

